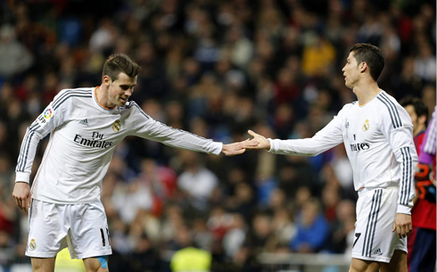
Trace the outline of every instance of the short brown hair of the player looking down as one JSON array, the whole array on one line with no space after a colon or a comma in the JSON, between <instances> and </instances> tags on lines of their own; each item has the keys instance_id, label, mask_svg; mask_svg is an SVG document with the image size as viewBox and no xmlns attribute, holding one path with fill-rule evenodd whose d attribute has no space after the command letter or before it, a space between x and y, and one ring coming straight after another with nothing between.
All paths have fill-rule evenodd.
<instances>
[{"instance_id":1,"label":"short brown hair of the player looking down","mask_svg":"<svg viewBox=\"0 0 437 272\"><path fill-rule=\"evenodd\" d=\"M117 80L121 72L129 78L136 77L141 67L132 61L126 54L111 54L103 65L102 78L108 75L112 80Z\"/></svg>"}]
</instances>

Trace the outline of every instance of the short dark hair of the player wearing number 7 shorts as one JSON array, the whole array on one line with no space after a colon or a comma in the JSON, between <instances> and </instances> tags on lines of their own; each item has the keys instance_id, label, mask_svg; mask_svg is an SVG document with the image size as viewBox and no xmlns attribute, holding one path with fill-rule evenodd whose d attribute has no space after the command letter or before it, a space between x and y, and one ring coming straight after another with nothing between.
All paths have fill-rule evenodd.
<instances>
[{"instance_id":1,"label":"short dark hair of the player wearing number 7 shorts","mask_svg":"<svg viewBox=\"0 0 437 272\"><path fill-rule=\"evenodd\" d=\"M383 51L378 46L370 44L356 44L350 48L358 63L366 62L370 69L370 76L376 81L383 71Z\"/></svg>"}]
</instances>

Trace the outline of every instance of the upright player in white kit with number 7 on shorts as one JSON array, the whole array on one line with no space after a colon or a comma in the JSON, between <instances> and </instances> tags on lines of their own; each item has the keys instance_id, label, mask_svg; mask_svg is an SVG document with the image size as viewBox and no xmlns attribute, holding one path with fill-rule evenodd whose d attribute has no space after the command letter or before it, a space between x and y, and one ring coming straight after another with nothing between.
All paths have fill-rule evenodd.
<instances>
[{"instance_id":1,"label":"upright player in white kit with number 7 on shorts","mask_svg":"<svg viewBox=\"0 0 437 272\"><path fill-rule=\"evenodd\" d=\"M276 154L314 156L344 143L358 191L350 271L407 272L407 235L415 188L417 154L408 112L376 82L384 59L375 45L357 44L342 69L346 87L358 97L312 138L266 139L258 144Z\"/></svg>"}]
</instances>

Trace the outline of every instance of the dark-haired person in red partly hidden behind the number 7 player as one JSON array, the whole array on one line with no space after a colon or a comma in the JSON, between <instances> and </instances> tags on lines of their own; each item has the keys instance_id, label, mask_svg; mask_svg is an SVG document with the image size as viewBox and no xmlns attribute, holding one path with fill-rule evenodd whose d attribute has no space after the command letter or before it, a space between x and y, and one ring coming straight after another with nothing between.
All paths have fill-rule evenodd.
<instances>
[{"instance_id":1,"label":"dark-haired person in red partly hidden behind the number 7 player","mask_svg":"<svg viewBox=\"0 0 437 272\"><path fill-rule=\"evenodd\" d=\"M427 119L428 119L428 110L423 101L421 101L419 98L413 98L408 97L400 101L400 104L408 111L414 129L413 129L413 135L414 135L414 141L416 144L416 151L417 154L420 157L421 153L421 145L424 142L425 138L425 129L427 125ZM419 161L420 162L420 161ZM424 176L425 177L425 176ZM419 177L420 179L420 177ZM424 178L422 178L424 179ZM429 177L426 176L425 179L429 179ZM411 210L412 215L412 222L413 222L413 231L408 236L408 271L428 271L423 270L422 268L419 269L417 265L424 265L425 263L428 263L430 265L430 262L433 262L435 264L435 200L429 201L425 199L425 187L422 187L423 181L418 181L416 183L416 199L415 199L415 205L413 209ZM429 195L428 195L429 197ZM435 196L434 196L435 197ZM428 251L427 248L424 248L421 240L416 241L416 234L419 230L419 235L422 237L424 232L425 234L430 232L432 230L433 237L430 237L431 240L428 245L432 246L433 249L433 261L432 260L426 260L426 257L428 254L426 253ZM432 239L433 238L433 239ZM420 244L419 246L415 246L416 244ZM432 250L430 249L430 250ZM414 262L413 262L414 260ZM413 263L413 266L411 264ZM422 266L421 265L421 266ZM432 265L433 267L433 265ZM433 268L430 268L430 271L433 271Z\"/></svg>"}]
</instances>

